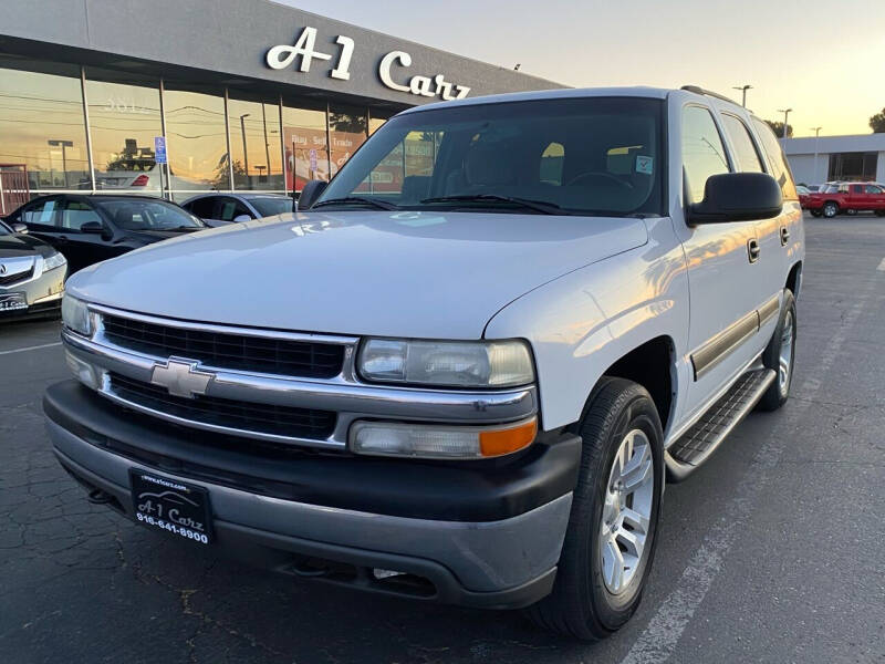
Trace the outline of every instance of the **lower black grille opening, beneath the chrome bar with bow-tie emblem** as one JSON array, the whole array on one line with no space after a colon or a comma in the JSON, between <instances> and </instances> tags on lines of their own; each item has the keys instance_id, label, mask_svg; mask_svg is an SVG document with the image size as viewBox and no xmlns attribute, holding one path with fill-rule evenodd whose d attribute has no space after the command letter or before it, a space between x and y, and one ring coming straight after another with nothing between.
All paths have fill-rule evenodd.
<instances>
[{"instance_id":1,"label":"lower black grille opening, beneath the chrome bar with bow-tie emblem","mask_svg":"<svg viewBox=\"0 0 885 664\"><path fill-rule=\"evenodd\" d=\"M181 417L244 432L324 440L335 428L330 411L243 403L214 396L183 398L163 387L111 373L111 391L127 402Z\"/></svg>"}]
</instances>

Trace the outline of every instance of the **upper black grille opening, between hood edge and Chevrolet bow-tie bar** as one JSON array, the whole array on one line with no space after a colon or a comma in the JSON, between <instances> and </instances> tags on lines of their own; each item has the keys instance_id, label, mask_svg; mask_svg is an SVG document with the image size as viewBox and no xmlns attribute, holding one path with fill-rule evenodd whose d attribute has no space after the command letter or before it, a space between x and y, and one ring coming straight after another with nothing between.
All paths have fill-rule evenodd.
<instances>
[{"instance_id":1,"label":"upper black grille opening, between hood edge and Chevrolet bow-tie bar","mask_svg":"<svg viewBox=\"0 0 885 664\"><path fill-rule=\"evenodd\" d=\"M176 328L111 314L104 314L103 322L105 336L118 346L164 359L179 355L217 369L332 378L344 363L340 344Z\"/></svg>"}]
</instances>

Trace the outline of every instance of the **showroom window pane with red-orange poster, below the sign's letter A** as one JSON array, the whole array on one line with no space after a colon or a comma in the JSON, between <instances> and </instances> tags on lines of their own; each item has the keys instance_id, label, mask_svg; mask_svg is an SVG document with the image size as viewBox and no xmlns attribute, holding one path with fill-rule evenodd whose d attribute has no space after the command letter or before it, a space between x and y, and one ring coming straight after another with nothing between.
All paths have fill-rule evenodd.
<instances>
[{"instance_id":1,"label":"showroom window pane with red-orange poster, below the sign's letter A","mask_svg":"<svg viewBox=\"0 0 885 664\"><path fill-rule=\"evenodd\" d=\"M288 191L301 191L308 180L329 180L325 111L283 101L283 152Z\"/></svg>"}]
</instances>

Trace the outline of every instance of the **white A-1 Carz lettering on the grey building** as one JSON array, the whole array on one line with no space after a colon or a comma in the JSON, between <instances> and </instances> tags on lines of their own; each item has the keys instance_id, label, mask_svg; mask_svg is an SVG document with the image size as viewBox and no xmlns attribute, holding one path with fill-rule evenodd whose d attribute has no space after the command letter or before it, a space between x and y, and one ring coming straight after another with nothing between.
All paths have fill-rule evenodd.
<instances>
[{"instance_id":1,"label":"white A-1 Carz lettering on the grey building","mask_svg":"<svg viewBox=\"0 0 885 664\"><path fill-rule=\"evenodd\" d=\"M314 60L329 62L329 76L339 81L350 81L351 60L356 46L355 42L343 34L335 38L339 45L337 53L322 53L316 50L316 28L306 27L295 39L291 46L281 44L268 51L266 61L268 66L282 70L289 66L296 68L300 72L310 72ZM381 59L378 64L378 79L381 82L398 92L406 92L418 96L439 97L442 100L462 100L470 93L467 85L458 85L446 81L442 74L430 76L416 74L408 80L397 82L394 80L393 69L412 66L412 55L405 51L391 51Z\"/></svg>"}]
</instances>

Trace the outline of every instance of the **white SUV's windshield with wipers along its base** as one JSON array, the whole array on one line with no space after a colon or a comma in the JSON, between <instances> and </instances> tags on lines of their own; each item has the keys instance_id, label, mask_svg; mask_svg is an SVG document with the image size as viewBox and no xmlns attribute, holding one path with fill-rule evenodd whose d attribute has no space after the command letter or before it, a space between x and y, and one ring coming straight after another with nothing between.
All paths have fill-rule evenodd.
<instances>
[{"instance_id":1,"label":"white SUV's windshield with wipers along its base","mask_svg":"<svg viewBox=\"0 0 885 664\"><path fill-rule=\"evenodd\" d=\"M662 106L583 97L406 113L375 132L314 209L662 214Z\"/></svg>"}]
</instances>

